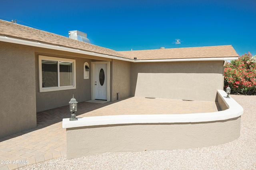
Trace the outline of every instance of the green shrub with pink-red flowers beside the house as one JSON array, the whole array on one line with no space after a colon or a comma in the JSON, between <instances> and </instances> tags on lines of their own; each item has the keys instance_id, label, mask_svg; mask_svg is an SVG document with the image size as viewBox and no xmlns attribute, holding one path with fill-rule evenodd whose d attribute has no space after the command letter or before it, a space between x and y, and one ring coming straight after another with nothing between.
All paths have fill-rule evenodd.
<instances>
[{"instance_id":1,"label":"green shrub with pink-red flowers beside the house","mask_svg":"<svg viewBox=\"0 0 256 170\"><path fill-rule=\"evenodd\" d=\"M224 68L224 87L231 93L256 94L256 62L248 52L237 60L227 62Z\"/></svg>"}]
</instances>

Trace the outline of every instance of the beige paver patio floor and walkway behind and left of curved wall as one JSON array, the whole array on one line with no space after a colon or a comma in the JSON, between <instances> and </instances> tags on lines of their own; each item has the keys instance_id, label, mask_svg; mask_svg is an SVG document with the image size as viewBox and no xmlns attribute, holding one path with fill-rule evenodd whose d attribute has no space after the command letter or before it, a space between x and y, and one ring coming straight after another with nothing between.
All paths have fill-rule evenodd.
<instances>
[{"instance_id":1,"label":"beige paver patio floor and walkway behind and left of curved wall","mask_svg":"<svg viewBox=\"0 0 256 170\"><path fill-rule=\"evenodd\" d=\"M132 97L104 104L81 102L77 117L123 114L188 114L218 111L218 103ZM12 170L66 155L69 106L37 113L37 127L0 139L0 170Z\"/></svg>"}]
</instances>

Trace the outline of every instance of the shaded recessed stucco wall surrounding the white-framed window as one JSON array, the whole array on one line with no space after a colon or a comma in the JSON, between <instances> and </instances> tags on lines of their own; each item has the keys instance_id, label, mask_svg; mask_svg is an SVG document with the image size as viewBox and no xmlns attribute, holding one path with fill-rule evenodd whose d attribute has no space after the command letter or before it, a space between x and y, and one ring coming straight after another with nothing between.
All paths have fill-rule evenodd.
<instances>
[{"instance_id":1,"label":"shaded recessed stucco wall surrounding the white-framed window","mask_svg":"<svg viewBox=\"0 0 256 170\"><path fill-rule=\"evenodd\" d=\"M49 57L60 57L76 60L76 89L59 90L53 92L39 92L39 79L38 79L38 55ZM79 57L76 57L79 56ZM34 55L36 61L36 111L44 111L56 107L67 106L68 102L74 94L74 98L78 102L91 100L91 74L89 79L84 79L84 63L88 62L91 67L92 59L82 58L88 57L86 55L76 55L74 53L67 53L63 51L54 51L47 49L36 49ZM90 70L91 71L91 70ZM78 104L79 105L79 104ZM69 112L67 111L67 116Z\"/></svg>"}]
</instances>

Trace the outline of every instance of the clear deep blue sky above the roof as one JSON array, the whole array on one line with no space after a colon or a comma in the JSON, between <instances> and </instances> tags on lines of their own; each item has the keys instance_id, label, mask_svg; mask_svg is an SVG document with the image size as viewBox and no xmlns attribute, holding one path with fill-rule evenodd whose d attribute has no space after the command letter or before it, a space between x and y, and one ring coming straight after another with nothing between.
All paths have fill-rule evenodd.
<instances>
[{"instance_id":1,"label":"clear deep blue sky above the roof","mask_svg":"<svg viewBox=\"0 0 256 170\"><path fill-rule=\"evenodd\" d=\"M233 45L256 55L256 0L6 0L0 19L117 51Z\"/></svg>"}]
</instances>

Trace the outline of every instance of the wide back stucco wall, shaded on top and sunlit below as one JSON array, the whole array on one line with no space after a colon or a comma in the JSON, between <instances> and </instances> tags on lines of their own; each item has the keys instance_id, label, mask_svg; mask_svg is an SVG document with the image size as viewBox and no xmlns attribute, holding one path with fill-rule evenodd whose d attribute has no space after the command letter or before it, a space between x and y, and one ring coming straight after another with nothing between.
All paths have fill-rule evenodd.
<instances>
[{"instance_id":1,"label":"wide back stucco wall, shaded on top and sunlit below","mask_svg":"<svg viewBox=\"0 0 256 170\"><path fill-rule=\"evenodd\" d=\"M215 101L223 61L131 64L131 96Z\"/></svg>"}]
</instances>

